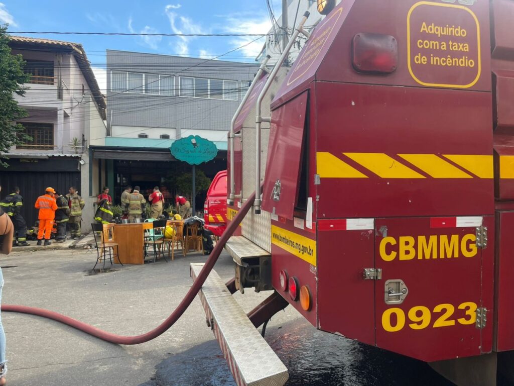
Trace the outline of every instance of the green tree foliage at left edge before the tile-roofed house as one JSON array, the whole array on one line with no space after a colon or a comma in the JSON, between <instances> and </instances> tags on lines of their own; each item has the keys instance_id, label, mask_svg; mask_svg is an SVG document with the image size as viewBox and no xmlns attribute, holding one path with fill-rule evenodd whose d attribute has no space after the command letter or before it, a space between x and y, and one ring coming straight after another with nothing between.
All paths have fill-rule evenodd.
<instances>
[{"instance_id":1,"label":"green tree foliage at left edge before the tile-roofed house","mask_svg":"<svg viewBox=\"0 0 514 386\"><path fill-rule=\"evenodd\" d=\"M27 111L18 106L14 94L24 96L27 87L23 84L30 80L24 73L25 61L21 55L11 55L7 24L0 24L0 152L7 153L13 145L30 141L16 120L26 117ZM7 166L2 162L0 165ZM5 158L5 157L4 157Z\"/></svg>"}]
</instances>

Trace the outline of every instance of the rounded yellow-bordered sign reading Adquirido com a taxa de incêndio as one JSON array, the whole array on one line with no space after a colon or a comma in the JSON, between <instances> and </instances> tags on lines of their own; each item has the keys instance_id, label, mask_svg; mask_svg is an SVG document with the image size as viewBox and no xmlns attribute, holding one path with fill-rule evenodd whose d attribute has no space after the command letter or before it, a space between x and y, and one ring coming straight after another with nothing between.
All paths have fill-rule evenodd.
<instances>
[{"instance_id":1,"label":"rounded yellow-bordered sign reading Adquirido com a taxa de inc\u00eandio","mask_svg":"<svg viewBox=\"0 0 514 386\"><path fill-rule=\"evenodd\" d=\"M476 15L462 5L414 4L407 15L407 63L421 85L472 87L482 71Z\"/></svg>"}]
</instances>

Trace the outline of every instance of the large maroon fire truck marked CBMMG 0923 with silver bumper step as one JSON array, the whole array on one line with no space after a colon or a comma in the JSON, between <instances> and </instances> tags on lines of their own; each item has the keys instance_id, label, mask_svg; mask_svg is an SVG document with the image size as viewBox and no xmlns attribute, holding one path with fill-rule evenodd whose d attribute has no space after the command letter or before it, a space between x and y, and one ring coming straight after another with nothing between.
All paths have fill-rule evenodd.
<instances>
[{"instance_id":1,"label":"large maroon fire truck marked CBMMG 0923 with silver bumper step","mask_svg":"<svg viewBox=\"0 0 514 386\"><path fill-rule=\"evenodd\" d=\"M290 304L320 330L494 385L514 350L514 1L318 8L261 65L229 135L229 222L255 199L226 244L228 288L273 295L247 317L213 272L208 323L237 384L287 380L255 327Z\"/></svg>"}]
</instances>

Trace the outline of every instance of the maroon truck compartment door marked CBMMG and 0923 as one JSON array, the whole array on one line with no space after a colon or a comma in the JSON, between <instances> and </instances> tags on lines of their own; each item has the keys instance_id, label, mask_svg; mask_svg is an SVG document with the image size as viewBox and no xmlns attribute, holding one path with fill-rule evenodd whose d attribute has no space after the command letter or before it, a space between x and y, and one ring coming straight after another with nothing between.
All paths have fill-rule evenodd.
<instances>
[{"instance_id":1,"label":"maroon truck compartment door marked CBMMG and 0923","mask_svg":"<svg viewBox=\"0 0 514 386\"><path fill-rule=\"evenodd\" d=\"M489 335L492 325L490 320L483 330L477 322L484 219L375 221L375 266L382 269L375 286L377 346L427 362L484 352L482 333ZM492 265L492 255L490 260Z\"/></svg>"}]
</instances>

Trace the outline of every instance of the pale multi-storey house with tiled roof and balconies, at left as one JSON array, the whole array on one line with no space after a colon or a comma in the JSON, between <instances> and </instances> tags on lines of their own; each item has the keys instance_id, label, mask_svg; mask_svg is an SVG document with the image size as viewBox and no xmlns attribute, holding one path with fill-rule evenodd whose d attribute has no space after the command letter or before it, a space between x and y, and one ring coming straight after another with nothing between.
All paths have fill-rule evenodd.
<instances>
[{"instance_id":1,"label":"pale multi-storey house with tiled roof and balconies, at left","mask_svg":"<svg viewBox=\"0 0 514 386\"><path fill-rule=\"evenodd\" d=\"M76 186L86 201L83 226L93 222L97 189L90 190L98 165L88 148L103 145L106 135L105 99L81 44L12 36L12 54L21 54L31 75L25 96L16 96L28 112L18 120L32 137L13 146L1 168L2 194L14 186L24 197L23 215L33 226L36 198L47 186L67 194ZM93 165L95 164L95 165Z\"/></svg>"}]
</instances>

